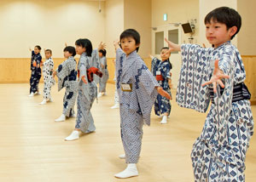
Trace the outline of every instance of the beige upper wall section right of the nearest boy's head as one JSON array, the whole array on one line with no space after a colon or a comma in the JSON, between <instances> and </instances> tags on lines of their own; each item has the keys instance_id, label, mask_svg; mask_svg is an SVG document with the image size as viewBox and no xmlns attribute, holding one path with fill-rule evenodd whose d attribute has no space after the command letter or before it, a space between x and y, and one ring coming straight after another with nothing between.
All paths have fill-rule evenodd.
<instances>
[{"instance_id":1,"label":"beige upper wall section right of the nearest boy's head","mask_svg":"<svg viewBox=\"0 0 256 182\"><path fill-rule=\"evenodd\" d=\"M237 10L241 15L241 30L238 33L238 49L242 55L256 55L255 0L238 0Z\"/></svg>"}]
</instances>

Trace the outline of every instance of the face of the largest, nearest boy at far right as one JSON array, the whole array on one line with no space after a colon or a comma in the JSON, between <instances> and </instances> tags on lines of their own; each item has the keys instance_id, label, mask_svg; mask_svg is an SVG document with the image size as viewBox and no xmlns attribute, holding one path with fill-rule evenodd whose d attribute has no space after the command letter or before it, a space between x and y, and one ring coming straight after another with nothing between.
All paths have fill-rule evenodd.
<instances>
[{"instance_id":1,"label":"face of the largest, nearest boy at far right","mask_svg":"<svg viewBox=\"0 0 256 182\"><path fill-rule=\"evenodd\" d=\"M231 40L231 37L236 33L234 28L237 30L236 26L227 30L225 24L211 20L210 23L206 24L207 40L214 45L214 48L218 48L218 46Z\"/></svg>"}]
</instances>

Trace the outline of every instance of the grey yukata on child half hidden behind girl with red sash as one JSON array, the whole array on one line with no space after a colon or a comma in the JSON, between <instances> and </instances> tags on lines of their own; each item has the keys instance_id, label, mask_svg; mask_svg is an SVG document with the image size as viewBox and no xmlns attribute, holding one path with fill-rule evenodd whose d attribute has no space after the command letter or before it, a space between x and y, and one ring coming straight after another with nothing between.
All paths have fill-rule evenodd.
<instances>
[{"instance_id":1,"label":"grey yukata on child half hidden behind girl with red sash","mask_svg":"<svg viewBox=\"0 0 256 182\"><path fill-rule=\"evenodd\" d=\"M100 58L100 63L101 63L100 67L103 75L102 75L102 78L100 78L100 82L99 82L99 92L106 92L106 86L107 86L109 76L108 76L107 59L105 56Z\"/></svg>"}]
</instances>

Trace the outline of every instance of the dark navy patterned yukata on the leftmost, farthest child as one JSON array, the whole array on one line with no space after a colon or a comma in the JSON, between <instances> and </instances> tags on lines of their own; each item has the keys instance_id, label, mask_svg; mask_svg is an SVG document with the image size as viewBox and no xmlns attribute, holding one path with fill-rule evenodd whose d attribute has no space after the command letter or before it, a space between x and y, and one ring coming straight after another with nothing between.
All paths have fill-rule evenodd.
<instances>
[{"instance_id":1,"label":"dark navy patterned yukata on the leftmost, farthest child","mask_svg":"<svg viewBox=\"0 0 256 182\"><path fill-rule=\"evenodd\" d=\"M37 62L37 66L34 67L33 66L33 61ZM40 53L35 54L34 51L32 51L32 58L31 58L31 63L30 63L30 70L31 72L31 77L30 77L30 90L29 93L36 93L39 91L38 88L38 83L40 81L41 78L41 68L40 68L40 64L42 62L42 56Z\"/></svg>"}]
</instances>

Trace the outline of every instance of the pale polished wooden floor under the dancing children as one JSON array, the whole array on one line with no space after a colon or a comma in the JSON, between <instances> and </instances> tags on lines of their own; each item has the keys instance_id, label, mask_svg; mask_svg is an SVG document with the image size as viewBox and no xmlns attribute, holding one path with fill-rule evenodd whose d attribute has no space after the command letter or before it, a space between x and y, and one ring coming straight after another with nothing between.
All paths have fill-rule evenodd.
<instances>
[{"instance_id":1,"label":"pale polished wooden floor under the dancing children","mask_svg":"<svg viewBox=\"0 0 256 182\"><path fill-rule=\"evenodd\" d=\"M40 90L43 85L40 85ZM124 153L119 134L119 110L112 110L114 86L94 103L92 115L96 133L75 141L64 141L75 119L54 122L61 115L63 91L53 87L54 102L38 105L43 96L27 97L28 84L0 84L0 181L193 181L190 151L201 133L206 114L183 109L172 100L172 114L166 125L152 115L151 127L144 127L143 150L137 165L139 176L115 179L125 168L118 158ZM173 93L174 94L174 93ZM256 106L253 106L256 116ZM247 182L256 179L256 139L247 152Z\"/></svg>"}]
</instances>

